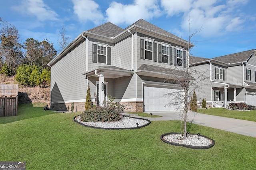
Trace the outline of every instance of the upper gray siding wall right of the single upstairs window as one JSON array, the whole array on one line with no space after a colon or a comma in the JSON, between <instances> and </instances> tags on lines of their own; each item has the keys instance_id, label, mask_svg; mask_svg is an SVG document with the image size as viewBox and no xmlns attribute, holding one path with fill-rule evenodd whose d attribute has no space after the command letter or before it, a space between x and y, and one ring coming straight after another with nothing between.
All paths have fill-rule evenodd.
<instances>
[{"instance_id":1,"label":"upper gray siding wall right of the single upstairs window","mask_svg":"<svg viewBox=\"0 0 256 170\"><path fill-rule=\"evenodd\" d=\"M135 35L133 42L133 51L135 51ZM126 70L131 69L132 62L132 38L131 36L126 37L122 41L115 44L115 66L124 68ZM133 67L135 63L135 52L133 52ZM134 70L134 68L133 68Z\"/></svg>"}]
</instances>

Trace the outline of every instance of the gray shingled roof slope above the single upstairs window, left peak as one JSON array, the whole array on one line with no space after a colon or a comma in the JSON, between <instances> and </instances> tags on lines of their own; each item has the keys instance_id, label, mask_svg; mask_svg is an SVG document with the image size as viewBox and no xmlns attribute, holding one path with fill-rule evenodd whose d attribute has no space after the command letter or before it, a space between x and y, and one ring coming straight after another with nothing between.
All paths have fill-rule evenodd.
<instances>
[{"instance_id":1,"label":"gray shingled roof slope above the single upstairs window, left peak","mask_svg":"<svg viewBox=\"0 0 256 170\"><path fill-rule=\"evenodd\" d=\"M107 22L98 27L87 30L86 32L95 33L98 35L104 35L106 37L114 37L121 33L124 29L118 27L117 25Z\"/></svg>"}]
</instances>

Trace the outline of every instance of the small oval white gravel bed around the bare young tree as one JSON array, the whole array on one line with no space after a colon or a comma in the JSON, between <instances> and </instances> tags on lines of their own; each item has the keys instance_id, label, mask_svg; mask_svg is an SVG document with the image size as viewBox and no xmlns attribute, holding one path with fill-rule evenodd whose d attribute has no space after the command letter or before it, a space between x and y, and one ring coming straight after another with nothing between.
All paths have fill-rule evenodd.
<instances>
[{"instance_id":1,"label":"small oval white gravel bed around the bare young tree","mask_svg":"<svg viewBox=\"0 0 256 170\"><path fill-rule=\"evenodd\" d=\"M188 134L186 139L181 139L180 134L169 134L163 137L164 140L172 143L178 143L183 145L190 145L195 147L205 147L212 144L210 139L200 136L198 140L198 135Z\"/></svg>"}]
</instances>

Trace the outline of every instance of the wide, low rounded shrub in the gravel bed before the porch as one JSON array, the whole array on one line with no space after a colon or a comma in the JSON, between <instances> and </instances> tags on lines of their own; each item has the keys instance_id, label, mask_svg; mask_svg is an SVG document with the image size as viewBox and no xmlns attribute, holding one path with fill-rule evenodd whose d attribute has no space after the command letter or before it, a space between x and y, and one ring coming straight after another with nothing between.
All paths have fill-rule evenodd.
<instances>
[{"instance_id":1,"label":"wide, low rounded shrub in the gravel bed before the porch","mask_svg":"<svg viewBox=\"0 0 256 170\"><path fill-rule=\"evenodd\" d=\"M82 121L102 121L111 122L121 120L122 116L114 107L92 107L81 114Z\"/></svg>"}]
</instances>

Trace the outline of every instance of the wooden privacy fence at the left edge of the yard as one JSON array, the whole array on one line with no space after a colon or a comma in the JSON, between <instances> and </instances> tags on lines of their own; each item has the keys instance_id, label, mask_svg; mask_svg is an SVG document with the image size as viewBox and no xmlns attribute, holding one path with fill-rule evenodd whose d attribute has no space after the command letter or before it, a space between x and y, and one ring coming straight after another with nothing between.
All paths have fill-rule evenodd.
<instances>
[{"instance_id":1,"label":"wooden privacy fence at the left edge of the yard","mask_svg":"<svg viewBox=\"0 0 256 170\"><path fill-rule=\"evenodd\" d=\"M0 117L16 116L18 111L18 84L0 84Z\"/></svg>"}]
</instances>

